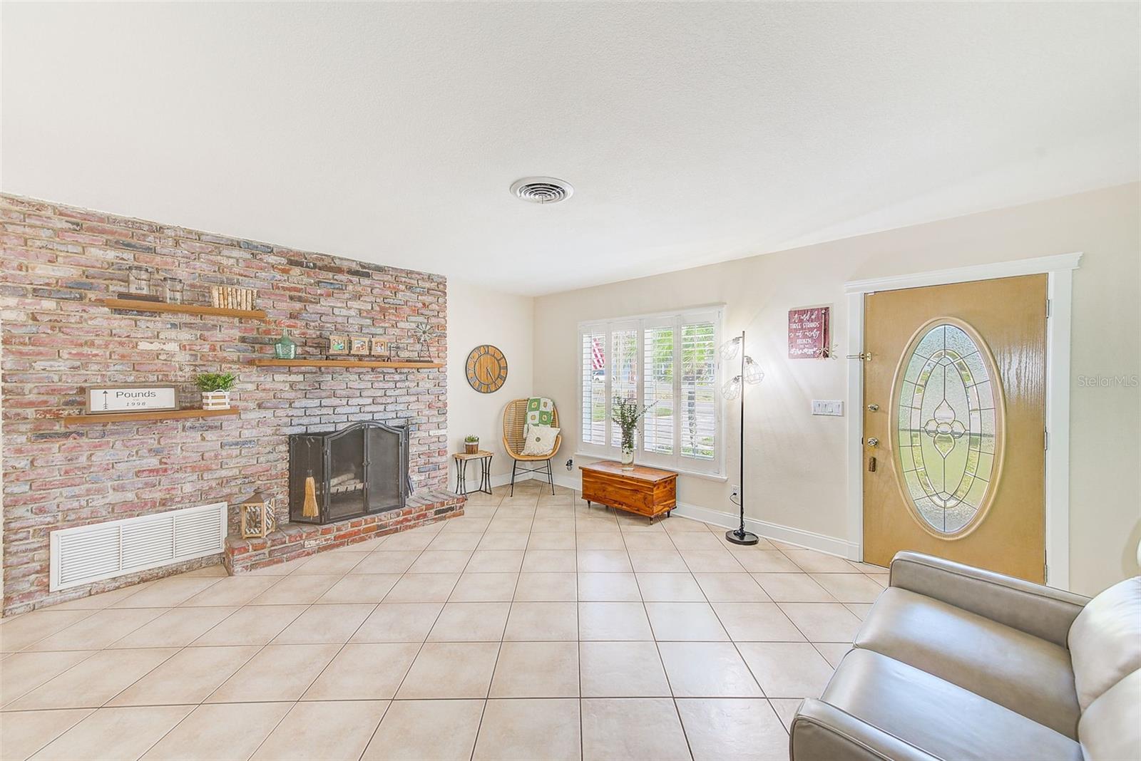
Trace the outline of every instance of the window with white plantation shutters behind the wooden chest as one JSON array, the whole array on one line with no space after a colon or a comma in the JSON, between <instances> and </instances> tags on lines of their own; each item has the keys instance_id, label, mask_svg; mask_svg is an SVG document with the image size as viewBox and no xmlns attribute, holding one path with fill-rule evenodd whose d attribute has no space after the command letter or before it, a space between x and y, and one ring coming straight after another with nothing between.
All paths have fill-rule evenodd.
<instances>
[{"instance_id":1,"label":"window with white plantation shutters behind the wooden chest","mask_svg":"<svg viewBox=\"0 0 1141 761\"><path fill-rule=\"evenodd\" d=\"M720 309L580 324L580 450L618 457L610 403L621 396L649 406L636 461L721 475L720 330Z\"/></svg>"}]
</instances>

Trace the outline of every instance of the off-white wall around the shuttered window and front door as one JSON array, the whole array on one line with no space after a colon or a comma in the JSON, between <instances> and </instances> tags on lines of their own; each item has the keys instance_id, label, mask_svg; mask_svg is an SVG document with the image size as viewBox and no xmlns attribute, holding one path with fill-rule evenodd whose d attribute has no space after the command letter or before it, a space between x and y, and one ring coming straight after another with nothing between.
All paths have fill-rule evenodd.
<instances>
[{"instance_id":1,"label":"off-white wall around the shuttered window and front door","mask_svg":"<svg viewBox=\"0 0 1141 761\"><path fill-rule=\"evenodd\" d=\"M847 395L840 358L852 347L844 345L843 284L1074 251L1085 257L1074 275L1070 586L1097 592L1138 573L1141 390L1083 386L1076 378L1141 374L1136 183L537 297L535 386L563 410L569 452L577 441L578 321L726 303L726 335L747 330L748 351L767 373L747 398L747 514L843 541L847 420L809 414L812 399ZM788 309L817 304L832 305L840 358L788 360ZM730 473L737 431L730 408ZM731 512L728 489L728 482L682 476L678 499Z\"/></svg>"}]
</instances>

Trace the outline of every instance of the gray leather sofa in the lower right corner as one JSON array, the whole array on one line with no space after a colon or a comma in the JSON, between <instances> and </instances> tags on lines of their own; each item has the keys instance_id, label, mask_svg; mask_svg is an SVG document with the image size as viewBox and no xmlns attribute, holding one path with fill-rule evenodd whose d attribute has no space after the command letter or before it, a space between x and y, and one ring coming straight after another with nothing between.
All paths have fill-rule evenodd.
<instances>
[{"instance_id":1,"label":"gray leather sofa in the lower right corner","mask_svg":"<svg viewBox=\"0 0 1141 761\"><path fill-rule=\"evenodd\" d=\"M899 553L793 761L1141 759L1141 576L1093 599Z\"/></svg>"}]
</instances>

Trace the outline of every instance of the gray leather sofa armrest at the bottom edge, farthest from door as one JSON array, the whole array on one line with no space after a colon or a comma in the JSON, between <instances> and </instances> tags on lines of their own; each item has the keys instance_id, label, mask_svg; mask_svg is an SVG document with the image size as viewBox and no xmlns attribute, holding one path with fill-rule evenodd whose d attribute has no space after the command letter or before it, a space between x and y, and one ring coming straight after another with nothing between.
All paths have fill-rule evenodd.
<instances>
[{"instance_id":1,"label":"gray leather sofa armrest at the bottom edge, farthest from door","mask_svg":"<svg viewBox=\"0 0 1141 761\"><path fill-rule=\"evenodd\" d=\"M825 703L807 698L788 733L790 761L938 761L914 745Z\"/></svg>"}]
</instances>

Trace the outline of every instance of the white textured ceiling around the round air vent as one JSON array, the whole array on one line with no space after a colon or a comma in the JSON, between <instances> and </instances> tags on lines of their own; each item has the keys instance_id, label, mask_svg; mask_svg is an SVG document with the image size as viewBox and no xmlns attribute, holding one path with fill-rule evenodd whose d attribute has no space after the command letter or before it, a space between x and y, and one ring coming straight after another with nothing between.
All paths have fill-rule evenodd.
<instances>
[{"instance_id":1,"label":"white textured ceiling around the round air vent","mask_svg":"<svg viewBox=\"0 0 1141 761\"><path fill-rule=\"evenodd\" d=\"M2 187L564 291L1136 180L1138 8L6 2Z\"/></svg>"}]
</instances>

